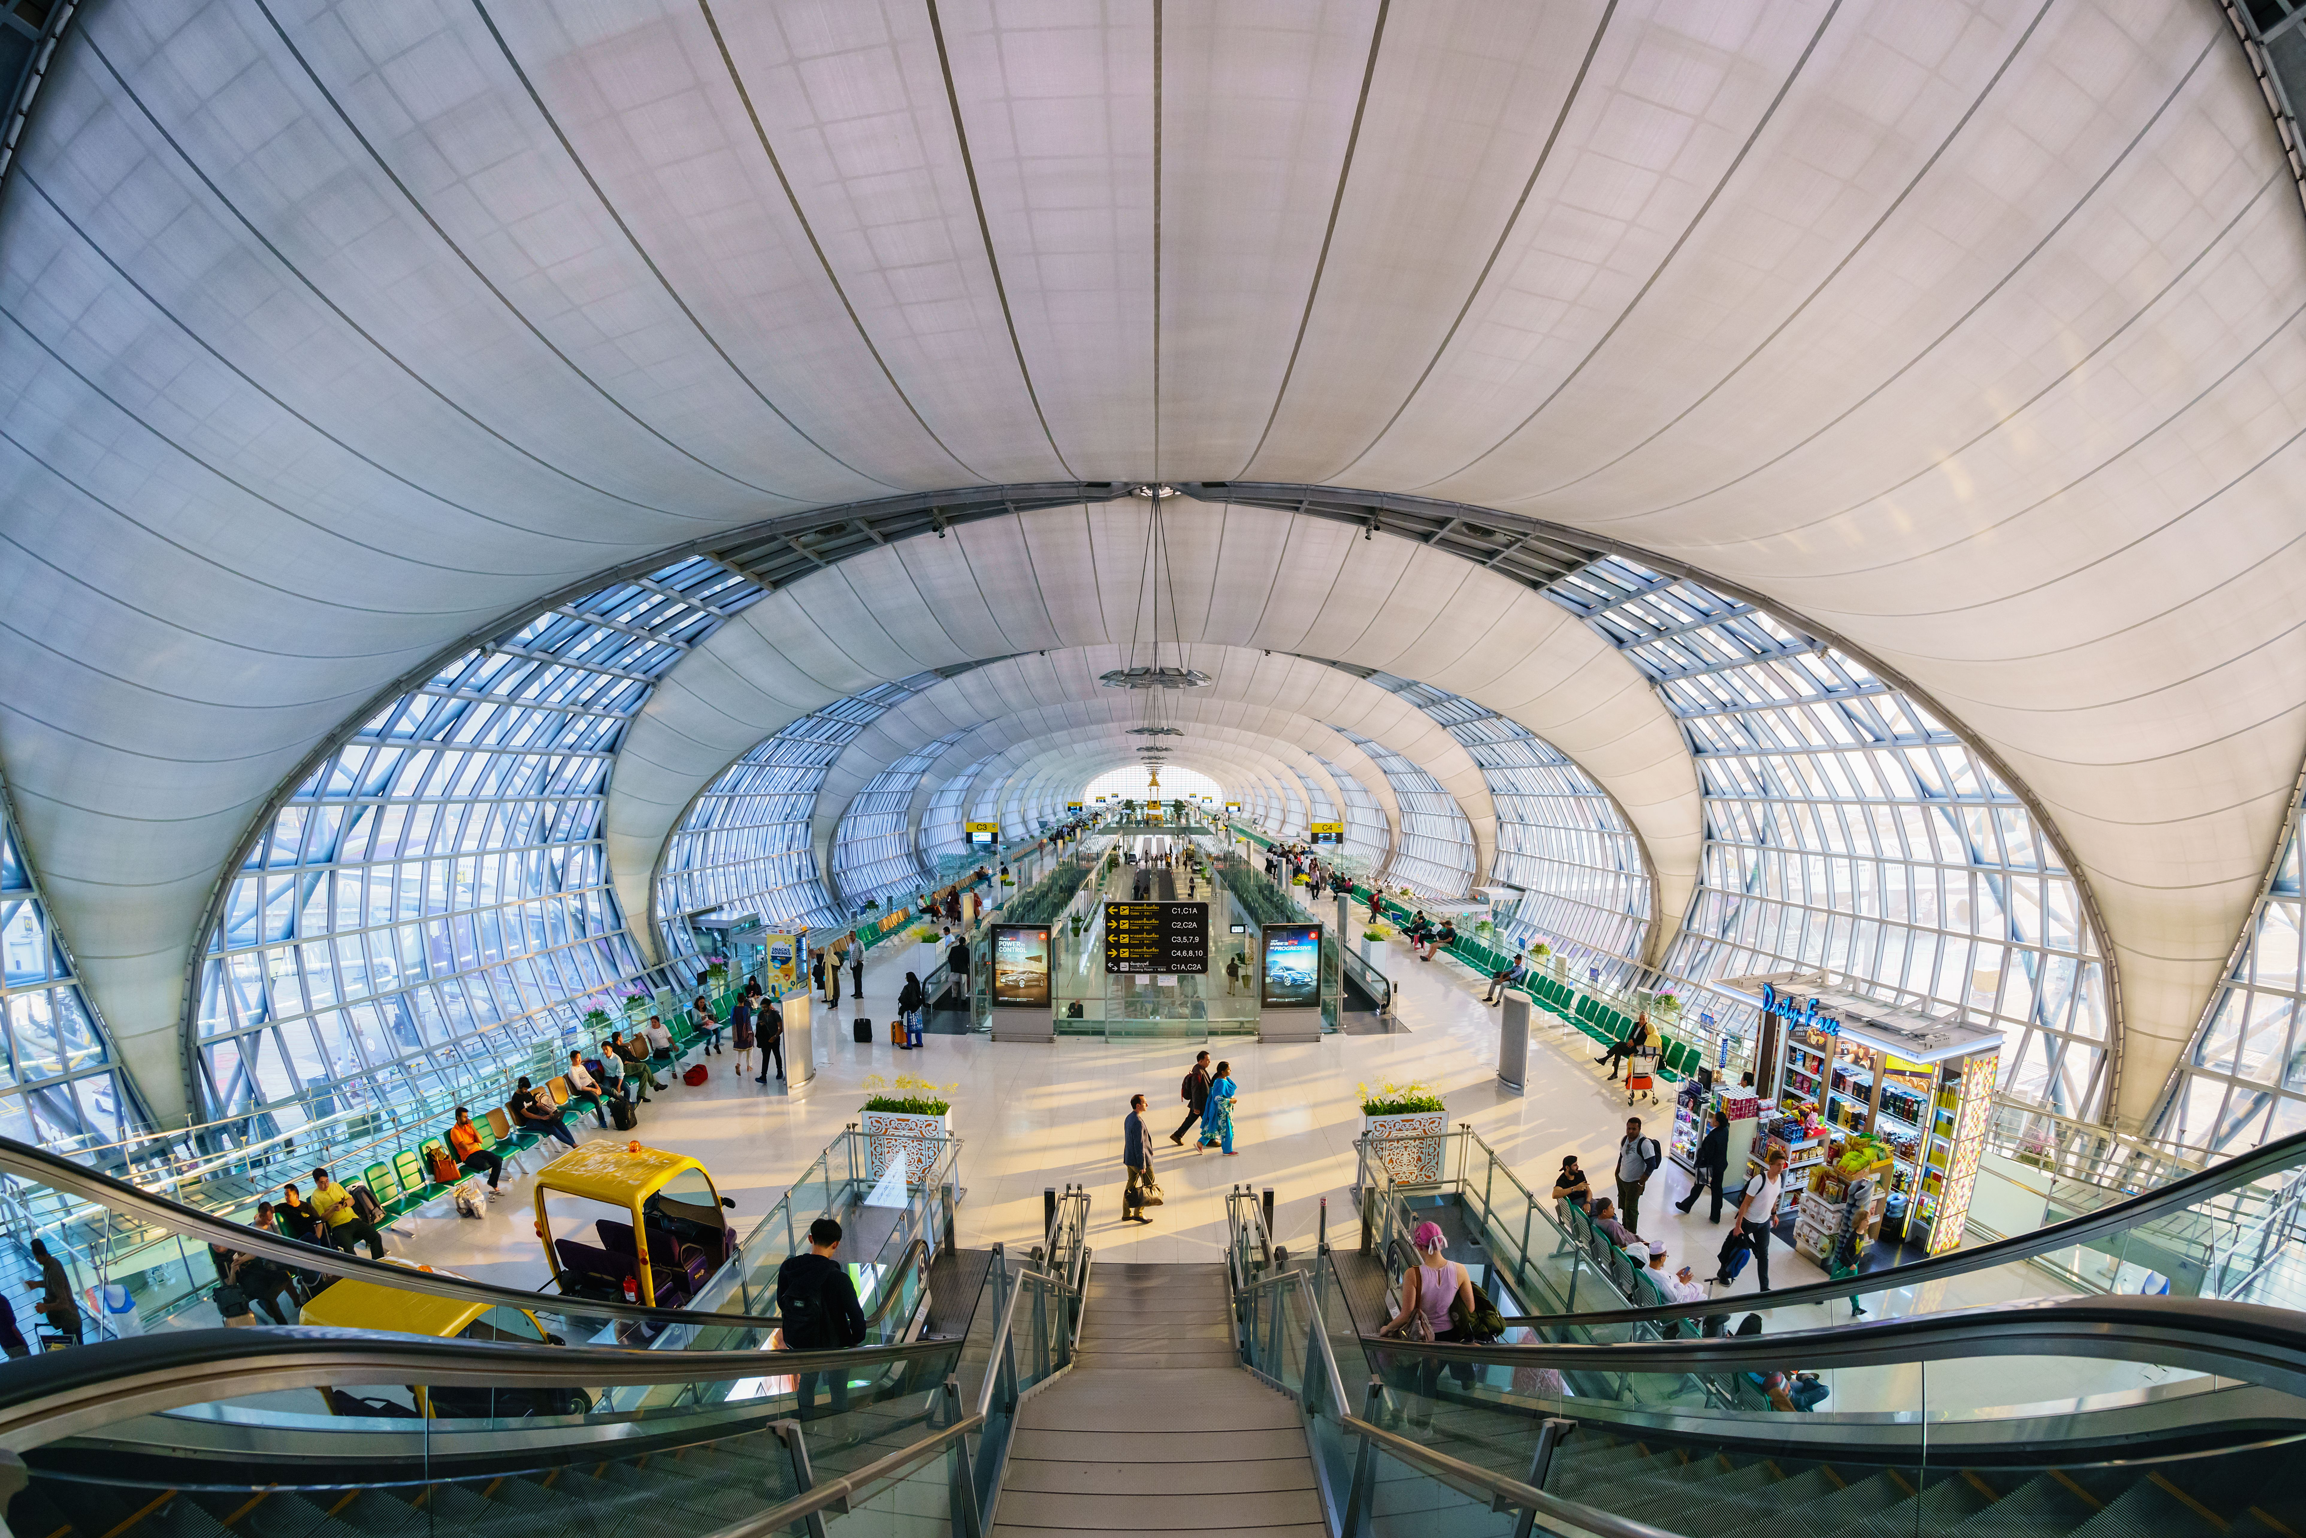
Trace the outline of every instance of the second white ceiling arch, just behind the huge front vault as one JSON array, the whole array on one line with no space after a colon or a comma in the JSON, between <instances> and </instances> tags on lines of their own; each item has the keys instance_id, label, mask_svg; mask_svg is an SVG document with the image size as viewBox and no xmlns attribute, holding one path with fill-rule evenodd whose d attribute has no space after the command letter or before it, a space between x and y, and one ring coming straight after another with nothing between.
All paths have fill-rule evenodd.
<instances>
[{"instance_id":1,"label":"second white ceiling arch, just behind the huge front vault","mask_svg":"<svg viewBox=\"0 0 2306 1538\"><path fill-rule=\"evenodd\" d=\"M1319 666L1243 671L1266 650L1384 669L1476 699L1619 798L1656 860L1660 911L1681 911L1700 844L1688 749L1649 683L1570 611L1455 553L1324 517L1174 498L1165 521L1174 572L1165 623L1188 643L1229 648L1222 676L1238 699L1319 717L1298 692L1347 680ZM618 756L609 839L627 904L646 895L657 851L696 791L798 715L985 657L1111 648L1100 669L1128 662L1132 616L1144 609L1144 549L1137 500L1052 507L874 546L754 604L666 676ZM1148 659L1148 639L1135 662ZM994 683L992 673L957 678L980 689L982 708L929 736L1077 696L1040 676ZM1478 768L1446 731L1384 689L1370 687L1370 699L1372 726L1340 724L1425 761L1469 812L1487 802ZM1420 754L1420 740L1434 752ZM1476 819L1483 853L1487 837Z\"/></svg>"}]
</instances>

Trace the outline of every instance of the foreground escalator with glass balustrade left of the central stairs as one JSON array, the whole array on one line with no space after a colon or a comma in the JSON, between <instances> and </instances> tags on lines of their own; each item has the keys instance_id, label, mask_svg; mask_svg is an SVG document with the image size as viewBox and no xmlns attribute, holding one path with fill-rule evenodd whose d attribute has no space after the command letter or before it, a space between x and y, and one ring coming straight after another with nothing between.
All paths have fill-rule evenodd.
<instances>
[{"instance_id":1,"label":"foreground escalator with glass balustrade left of the central stairs","mask_svg":"<svg viewBox=\"0 0 2306 1538\"><path fill-rule=\"evenodd\" d=\"M1052 1271L994 1250L971 1296L941 1307L957 1333L851 1351L768 1351L773 1319L655 1310L639 1324L692 1330L685 1349L634 1330L623 1340L653 1349L291 1326L164 1330L9 1363L7 1531L982 1538L1019 1402L1070 1365L1079 1307L1065 1275L1086 1273L1084 1231L1079 1197L1052 1229Z\"/></svg>"}]
</instances>

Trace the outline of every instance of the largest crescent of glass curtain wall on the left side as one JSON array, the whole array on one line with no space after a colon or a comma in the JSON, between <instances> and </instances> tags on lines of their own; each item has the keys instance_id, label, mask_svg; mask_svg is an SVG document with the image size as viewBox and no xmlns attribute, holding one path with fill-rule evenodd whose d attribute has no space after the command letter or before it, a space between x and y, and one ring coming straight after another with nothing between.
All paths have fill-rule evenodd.
<instances>
[{"instance_id":1,"label":"largest crescent of glass curtain wall on the left side","mask_svg":"<svg viewBox=\"0 0 2306 1538\"><path fill-rule=\"evenodd\" d=\"M696 558L549 609L307 775L208 936L210 1116L267 1134L454 1093L646 992L602 849L609 766L655 680L759 595Z\"/></svg>"}]
</instances>

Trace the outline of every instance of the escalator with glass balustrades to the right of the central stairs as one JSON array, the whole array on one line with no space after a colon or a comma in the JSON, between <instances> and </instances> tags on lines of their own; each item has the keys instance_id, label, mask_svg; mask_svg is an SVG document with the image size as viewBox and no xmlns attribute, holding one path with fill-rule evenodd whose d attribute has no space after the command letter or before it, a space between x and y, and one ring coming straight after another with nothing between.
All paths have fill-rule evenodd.
<instances>
[{"instance_id":1,"label":"escalator with glass balustrades to the right of the central stairs","mask_svg":"<svg viewBox=\"0 0 2306 1538\"><path fill-rule=\"evenodd\" d=\"M1467 1139L1448 1178L1365 1169L1367 1250L1259 1264L1236 1213L1243 1360L1298 1402L1333 1533L2297 1538L2306 1317L2066 1282L2078 1257L2264 1215L2301 1141L1919 1280L1626 1307L1626 1277ZM1453 1229L1499 1342L1379 1335L1411 1217ZM1603 1307L1559 1307L1573 1282Z\"/></svg>"}]
</instances>

